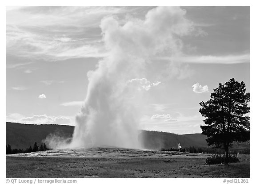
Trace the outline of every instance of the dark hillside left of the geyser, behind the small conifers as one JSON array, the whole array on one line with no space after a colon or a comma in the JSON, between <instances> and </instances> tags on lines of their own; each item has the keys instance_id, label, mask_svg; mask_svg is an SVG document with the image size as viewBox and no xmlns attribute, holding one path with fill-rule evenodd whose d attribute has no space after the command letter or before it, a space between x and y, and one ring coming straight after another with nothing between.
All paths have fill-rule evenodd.
<instances>
[{"instance_id":1,"label":"dark hillside left of the geyser, behind the small conifers","mask_svg":"<svg viewBox=\"0 0 256 184\"><path fill-rule=\"evenodd\" d=\"M42 140L50 133L58 133L64 137L72 137L74 126L67 125L31 125L6 122L6 145L10 144L12 149L26 149L42 144Z\"/></svg>"}]
</instances>

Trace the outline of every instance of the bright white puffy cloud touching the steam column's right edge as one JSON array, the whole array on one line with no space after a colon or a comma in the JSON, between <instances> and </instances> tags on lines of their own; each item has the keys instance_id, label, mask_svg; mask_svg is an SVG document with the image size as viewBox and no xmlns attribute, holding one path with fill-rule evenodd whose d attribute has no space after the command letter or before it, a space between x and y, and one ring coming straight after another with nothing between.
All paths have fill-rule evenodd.
<instances>
[{"instance_id":1,"label":"bright white puffy cloud touching the steam column's right edge","mask_svg":"<svg viewBox=\"0 0 256 184\"><path fill-rule=\"evenodd\" d=\"M139 91L141 90L148 91L149 89L152 88L152 86L157 86L160 83L161 83L160 81L156 81L156 83L151 83L149 80L145 78L130 79L127 81L128 85L132 85L133 87L137 88Z\"/></svg>"}]
</instances>

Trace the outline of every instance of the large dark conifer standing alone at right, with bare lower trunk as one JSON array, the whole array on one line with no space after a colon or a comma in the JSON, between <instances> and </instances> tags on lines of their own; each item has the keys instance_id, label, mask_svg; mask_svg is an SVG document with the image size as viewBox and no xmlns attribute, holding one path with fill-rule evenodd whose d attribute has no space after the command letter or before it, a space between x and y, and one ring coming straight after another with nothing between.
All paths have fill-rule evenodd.
<instances>
[{"instance_id":1,"label":"large dark conifer standing alone at right, with bare lower trunk","mask_svg":"<svg viewBox=\"0 0 256 184\"><path fill-rule=\"evenodd\" d=\"M250 140L250 112L248 102L250 93L245 93L244 82L234 78L213 89L211 98L201 102L199 110L206 125L201 126L202 134L207 136L208 146L225 150L225 164L228 165L228 149L232 142Z\"/></svg>"}]
</instances>

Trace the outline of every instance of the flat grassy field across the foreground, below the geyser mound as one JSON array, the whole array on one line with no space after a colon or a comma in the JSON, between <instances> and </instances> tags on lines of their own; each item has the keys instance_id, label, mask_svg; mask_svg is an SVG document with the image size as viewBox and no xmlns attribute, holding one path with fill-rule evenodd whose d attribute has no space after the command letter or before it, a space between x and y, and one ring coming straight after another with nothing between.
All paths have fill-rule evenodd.
<instances>
[{"instance_id":1,"label":"flat grassy field across the foreground, below the geyser mound","mask_svg":"<svg viewBox=\"0 0 256 184\"><path fill-rule=\"evenodd\" d=\"M6 177L250 178L250 155L238 155L240 162L229 166L206 165L206 157L6 157Z\"/></svg>"}]
</instances>

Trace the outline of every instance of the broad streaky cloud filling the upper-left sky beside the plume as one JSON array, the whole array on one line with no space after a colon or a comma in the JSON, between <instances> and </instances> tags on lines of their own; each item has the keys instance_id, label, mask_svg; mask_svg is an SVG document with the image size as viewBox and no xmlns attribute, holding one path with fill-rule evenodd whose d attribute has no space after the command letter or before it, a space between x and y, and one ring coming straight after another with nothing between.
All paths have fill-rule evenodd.
<instances>
[{"instance_id":1,"label":"broad streaky cloud filling the upper-left sky beside the plume","mask_svg":"<svg viewBox=\"0 0 256 184\"><path fill-rule=\"evenodd\" d=\"M125 19L148 7L40 6L9 7L6 12L6 53L59 61L104 57L100 20L106 15Z\"/></svg>"}]
</instances>

